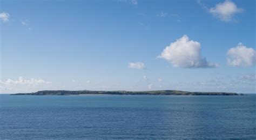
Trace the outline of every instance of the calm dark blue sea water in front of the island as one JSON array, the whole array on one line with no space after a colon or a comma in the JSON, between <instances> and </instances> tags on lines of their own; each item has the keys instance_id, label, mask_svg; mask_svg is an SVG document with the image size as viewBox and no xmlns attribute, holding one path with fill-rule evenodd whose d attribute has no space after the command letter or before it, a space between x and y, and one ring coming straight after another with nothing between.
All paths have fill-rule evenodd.
<instances>
[{"instance_id":1,"label":"calm dark blue sea water in front of the island","mask_svg":"<svg viewBox=\"0 0 256 140\"><path fill-rule=\"evenodd\" d=\"M256 95L0 95L0 139L256 138Z\"/></svg>"}]
</instances>

